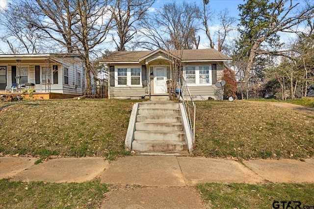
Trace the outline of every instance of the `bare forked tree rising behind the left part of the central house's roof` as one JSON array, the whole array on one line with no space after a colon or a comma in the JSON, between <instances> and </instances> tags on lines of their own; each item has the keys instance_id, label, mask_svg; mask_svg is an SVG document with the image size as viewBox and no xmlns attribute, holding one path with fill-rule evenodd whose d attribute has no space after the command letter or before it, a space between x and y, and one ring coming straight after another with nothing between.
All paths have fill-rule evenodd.
<instances>
[{"instance_id":1,"label":"bare forked tree rising behind the left part of the central house's roof","mask_svg":"<svg viewBox=\"0 0 314 209\"><path fill-rule=\"evenodd\" d=\"M116 40L112 34L112 39L118 51L125 51L126 44L129 43L136 34L136 23L145 15L155 0L117 0L115 6L111 6L113 14L114 30L118 34Z\"/></svg>"}]
</instances>

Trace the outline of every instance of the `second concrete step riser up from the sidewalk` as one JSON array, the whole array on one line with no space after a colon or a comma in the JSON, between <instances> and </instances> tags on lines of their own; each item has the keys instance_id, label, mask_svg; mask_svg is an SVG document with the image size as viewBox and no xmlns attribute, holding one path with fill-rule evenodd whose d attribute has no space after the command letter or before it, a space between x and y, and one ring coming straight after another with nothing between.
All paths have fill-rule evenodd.
<instances>
[{"instance_id":1,"label":"second concrete step riser up from the sidewalk","mask_svg":"<svg viewBox=\"0 0 314 209\"><path fill-rule=\"evenodd\" d=\"M157 133L157 132L134 132L135 140L158 140L158 141L185 141L184 133Z\"/></svg>"}]
</instances>

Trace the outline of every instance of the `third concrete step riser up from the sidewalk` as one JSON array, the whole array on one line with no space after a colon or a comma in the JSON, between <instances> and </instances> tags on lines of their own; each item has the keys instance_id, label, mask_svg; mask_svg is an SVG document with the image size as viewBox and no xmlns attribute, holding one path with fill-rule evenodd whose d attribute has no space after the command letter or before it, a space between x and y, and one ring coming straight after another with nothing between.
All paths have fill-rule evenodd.
<instances>
[{"instance_id":1,"label":"third concrete step riser up from the sidewalk","mask_svg":"<svg viewBox=\"0 0 314 209\"><path fill-rule=\"evenodd\" d=\"M172 125L163 123L136 123L137 131L183 131L183 125Z\"/></svg>"}]
</instances>

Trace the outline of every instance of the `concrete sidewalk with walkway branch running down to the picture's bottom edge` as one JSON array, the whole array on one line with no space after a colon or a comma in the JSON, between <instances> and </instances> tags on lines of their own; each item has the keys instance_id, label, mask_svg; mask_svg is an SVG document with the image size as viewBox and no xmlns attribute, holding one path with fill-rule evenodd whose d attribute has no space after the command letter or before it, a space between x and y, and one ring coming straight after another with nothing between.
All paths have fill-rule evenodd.
<instances>
[{"instance_id":1,"label":"concrete sidewalk with walkway branch running down to the picture's bottom edge","mask_svg":"<svg viewBox=\"0 0 314 209\"><path fill-rule=\"evenodd\" d=\"M108 163L100 157L0 157L0 179L85 182L100 178L119 185L103 208L204 208L197 183L314 183L314 159L249 160L243 163L205 157L132 156ZM134 186L135 185L135 186ZM131 189L130 189L131 188ZM158 201L159 200L159 201ZM162 200L162 201L160 201Z\"/></svg>"}]
</instances>

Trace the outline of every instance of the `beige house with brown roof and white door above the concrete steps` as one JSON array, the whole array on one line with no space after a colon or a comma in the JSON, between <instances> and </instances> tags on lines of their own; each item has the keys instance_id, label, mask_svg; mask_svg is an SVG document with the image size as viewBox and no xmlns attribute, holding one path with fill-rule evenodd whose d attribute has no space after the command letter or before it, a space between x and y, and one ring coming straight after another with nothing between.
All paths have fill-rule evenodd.
<instances>
[{"instance_id":1,"label":"beige house with brown roof and white door above the concrete steps","mask_svg":"<svg viewBox=\"0 0 314 209\"><path fill-rule=\"evenodd\" d=\"M224 62L228 60L231 59L215 49L158 49L112 52L100 63L109 69L109 98L166 95L167 81L183 75L193 100L207 100L222 98L215 82L222 77Z\"/></svg>"}]
</instances>

